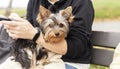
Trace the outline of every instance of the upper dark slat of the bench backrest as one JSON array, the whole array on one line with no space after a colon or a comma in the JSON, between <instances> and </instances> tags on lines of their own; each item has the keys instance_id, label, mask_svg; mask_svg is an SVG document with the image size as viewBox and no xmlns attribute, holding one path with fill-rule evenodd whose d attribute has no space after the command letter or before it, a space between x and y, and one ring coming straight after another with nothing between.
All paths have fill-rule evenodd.
<instances>
[{"instance_id":1,"label":"upper dark slat of the bench backrest","mask_svg":"<svg viewBox=\"0 0 120 69\"><path fill-rule=\"evenodd\" d=\"M120 32L93 31L92 42L95 46L116 47L120 42Z\"/></svg>"}]
</instances>

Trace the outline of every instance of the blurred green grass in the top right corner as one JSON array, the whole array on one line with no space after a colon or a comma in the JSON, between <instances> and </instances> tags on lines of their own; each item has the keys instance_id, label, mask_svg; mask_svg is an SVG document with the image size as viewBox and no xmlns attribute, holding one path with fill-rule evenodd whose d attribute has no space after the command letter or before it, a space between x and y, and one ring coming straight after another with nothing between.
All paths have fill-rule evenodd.
<instances>
[{"instance_id":1,"label":"blurred green grass in the top right corner","mask_svg":"<svg viewBox=\"0 0 120 69\"><path fill-rule=\"evenodd\" d=\"M93 0L95 18L119 18L120 0Z\"/></svg>"}]
</instances>

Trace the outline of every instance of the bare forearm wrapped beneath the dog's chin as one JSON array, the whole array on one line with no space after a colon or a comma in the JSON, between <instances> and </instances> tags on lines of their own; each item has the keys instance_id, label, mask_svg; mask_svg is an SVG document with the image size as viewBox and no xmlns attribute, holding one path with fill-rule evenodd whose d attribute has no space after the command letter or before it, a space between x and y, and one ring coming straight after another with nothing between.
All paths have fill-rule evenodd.
<instances>
[{"instance_id":1,"label":"bare forearm wrapped beneath the dog's chin","mask_svg":"<svg viewBox=\"0 0 120 69\"><path fill-rule=\"evenodd\" d=\"M55 52L61 55L65 55L67 51L67 43L65 39L58 43L48 43L44 41L42 33L40 34L40 37L38 38L36 43L38 45L42 45L44 48L52 52Z\"/></svg>"}]
</instances>

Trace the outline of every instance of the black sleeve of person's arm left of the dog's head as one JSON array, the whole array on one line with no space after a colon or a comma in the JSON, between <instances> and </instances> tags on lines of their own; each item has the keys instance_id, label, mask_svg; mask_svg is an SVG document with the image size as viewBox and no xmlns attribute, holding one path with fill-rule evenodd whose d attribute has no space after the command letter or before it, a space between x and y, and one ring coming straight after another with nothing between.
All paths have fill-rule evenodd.
<instances>
[{"instance_id":1,"label":"black sleeve of person's arm left of the dog's head","mask_svg":"<svg viewBox=\"0 0 120 69\"><path fill-rule=\"evenodd\" d=\"M39 9L39 2L41 0L29 0L27 5L26 19L34 26L38 27L39 24L36 21L37 10Z\"/></svg>"}]
</instances>

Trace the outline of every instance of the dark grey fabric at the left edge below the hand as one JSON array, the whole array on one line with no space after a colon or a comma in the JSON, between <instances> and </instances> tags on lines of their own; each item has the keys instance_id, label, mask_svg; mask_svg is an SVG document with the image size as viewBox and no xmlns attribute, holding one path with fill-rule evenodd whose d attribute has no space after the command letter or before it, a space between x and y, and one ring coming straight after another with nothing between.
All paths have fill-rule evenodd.
<instances>
[{"instance_id":1,"label":"dark grey fabric at the left edge below the hand","mask_svg":"<svg viewBox=\"0 0 120 69\"><path fill-rule=\"evenodd\" d=\"M0 24L0 64L13 55L14 43L15 40L9 37L4 26Z\"/></svg>"}]
</instances>

